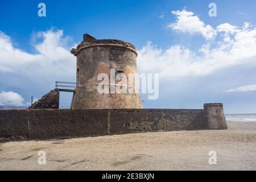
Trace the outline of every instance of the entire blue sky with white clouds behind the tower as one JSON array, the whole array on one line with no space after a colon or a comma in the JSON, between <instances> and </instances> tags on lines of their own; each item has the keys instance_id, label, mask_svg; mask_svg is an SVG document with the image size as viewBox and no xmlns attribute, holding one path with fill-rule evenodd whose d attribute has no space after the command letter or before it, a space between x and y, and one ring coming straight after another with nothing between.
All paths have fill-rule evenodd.
<instances>
[{"instance_id":1,"label":"entire blue sky with white clouds behind the tower","mask_svg":"<svg viewBox=\"0 0 256 182\"><path fill-rule=\"evenodd\" d=\"M38 16L40 2L46 17ZM217 17L208 15L210 2ZM89 33L133 43L138 72L160 74L159 98L142 95L145 108L224 102L226 113L255 113L255 7L256 1L1 1L0 105L26 105L56 80L75 81L69 49ZM61 105L70 100L61 94Z\"/></svg>"}]
</instances>

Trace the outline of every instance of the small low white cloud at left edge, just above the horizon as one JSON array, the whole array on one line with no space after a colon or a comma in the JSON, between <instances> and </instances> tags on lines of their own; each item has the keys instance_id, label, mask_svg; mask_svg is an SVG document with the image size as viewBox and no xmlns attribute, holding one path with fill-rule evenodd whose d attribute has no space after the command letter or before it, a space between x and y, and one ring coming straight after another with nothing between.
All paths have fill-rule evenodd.
<instances>
[{"instance_id":1,"label":"small low white cloud at left edge, just above the horizon","mask_svg":"<svg viewBox=\"0 0 256 182\"><path fill-rule=\"evenodd\" d=\"M24 98L15 92L0 93L0 105L3 106L23 106Z\"/></svg>"}]
</instances>

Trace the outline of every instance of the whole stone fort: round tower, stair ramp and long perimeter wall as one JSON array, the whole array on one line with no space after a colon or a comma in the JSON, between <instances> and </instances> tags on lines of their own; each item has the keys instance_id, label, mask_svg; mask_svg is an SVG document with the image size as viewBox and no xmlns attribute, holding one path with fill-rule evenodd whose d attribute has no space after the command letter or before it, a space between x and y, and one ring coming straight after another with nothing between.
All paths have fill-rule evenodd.
<instances>
[{"instance_id":1,"label":"whole stone fort: round tower, stair ramp and long perimeter wall","mask_svg":"<svg viewBox=\"0 0 256 182\"><path fill-rule=\"evenodd\" d=\"M133 44L85 34L71 53L77 57L72 109L59 109L60 89L55 89L28 110L0 110L0 141L228 128L222 104L205 104L204 109L142 109L139 93L98 93L100 73L107 77L113 69L117 74L136 73ZM136 82L128 86L137 89Z\"/></svg>"}]
</instances>

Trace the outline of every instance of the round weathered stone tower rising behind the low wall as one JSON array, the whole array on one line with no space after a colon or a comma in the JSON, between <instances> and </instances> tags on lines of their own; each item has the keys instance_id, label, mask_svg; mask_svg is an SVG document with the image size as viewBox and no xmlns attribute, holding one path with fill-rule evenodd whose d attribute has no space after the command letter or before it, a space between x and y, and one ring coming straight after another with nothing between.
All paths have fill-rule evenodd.
<instances>
[{"instance_id":1,"label":"round weathered stone tower rising behind the low wall","mask_svg":"<svg viewBox=\"0 0 256 182\"><path fill-rule=\"evenodd\" d=\"M129 74L137 72L137 52L133 44L97 40L85 34L71 53L77 57L77 88L72 109L142 109L136 78L129 82Z\"/></svg>"}]
</instances>

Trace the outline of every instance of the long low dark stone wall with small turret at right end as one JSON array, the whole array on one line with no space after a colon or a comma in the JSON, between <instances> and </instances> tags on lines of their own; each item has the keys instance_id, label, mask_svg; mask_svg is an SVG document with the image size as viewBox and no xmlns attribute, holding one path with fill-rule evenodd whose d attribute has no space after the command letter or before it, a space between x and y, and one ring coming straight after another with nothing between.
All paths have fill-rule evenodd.
<instances>
[{"instance_id":1,"label":"long low dark stone wall with small turret at right end","mask_svg":"<svg viewBox=\"0 0 256 182\"><path fill-rule=\"evenodd\" d=\"M227 129L225 117L220 112L213 127L214 119L209 115L209 108L213 111L216 105L207 106L205 109L0 110L0 138L2 141L33 140Z\"/></svg>"}]
</instances>

